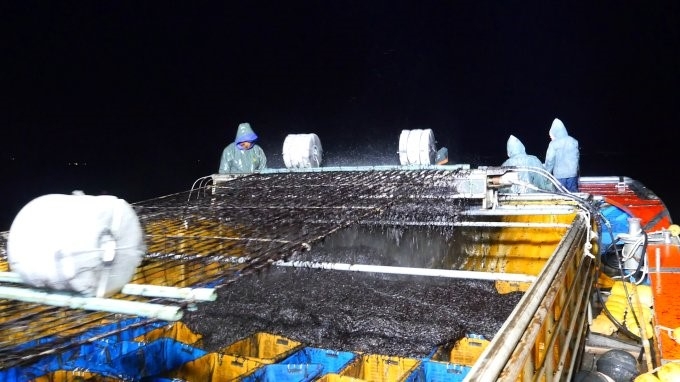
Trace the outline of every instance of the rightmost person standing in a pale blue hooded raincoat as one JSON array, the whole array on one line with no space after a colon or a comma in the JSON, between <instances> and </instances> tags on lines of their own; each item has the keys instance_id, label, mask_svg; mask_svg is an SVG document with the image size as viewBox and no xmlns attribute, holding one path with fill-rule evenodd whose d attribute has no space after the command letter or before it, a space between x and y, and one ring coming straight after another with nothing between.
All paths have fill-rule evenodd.
<instances>
[{"instance_id":1,"label":"rightmost person standing in a pale blue hooded raincoat","mask_svg":"<svg viewBox=\"0 0 680 382\"><path fill-rule=\"evenodd\" d=\"M564 123L555 118L550 126L550 144L543 166L570 192L578 192L578 141L567 133Z\"/></svg>"}]
</instances>

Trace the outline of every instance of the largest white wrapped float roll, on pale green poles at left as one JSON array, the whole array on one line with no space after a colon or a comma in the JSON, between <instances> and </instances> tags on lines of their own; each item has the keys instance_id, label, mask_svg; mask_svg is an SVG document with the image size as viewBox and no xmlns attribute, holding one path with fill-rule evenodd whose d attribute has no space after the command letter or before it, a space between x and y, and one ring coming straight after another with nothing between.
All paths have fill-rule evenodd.
<instances>
[{"instance_id":1,"label":"largest white wrapped float roll, on pale green poles at left","mask_svg":"<svg viewBox=\"0 0 680 382\"><path fill-rule=\"evenodd\" d=\"M130 282L146 246L137 214L110 195L49 194L17 214L10 270L28 285L105 297Z\"/></svg>"}]
</instances>

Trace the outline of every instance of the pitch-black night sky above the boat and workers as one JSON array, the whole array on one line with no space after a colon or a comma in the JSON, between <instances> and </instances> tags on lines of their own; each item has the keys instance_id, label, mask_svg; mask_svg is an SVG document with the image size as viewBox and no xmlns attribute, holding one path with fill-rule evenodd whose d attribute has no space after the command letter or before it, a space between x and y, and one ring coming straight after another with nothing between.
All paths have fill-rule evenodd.
<instances>
[{"instance_id":1,"label":"pitch-black night sky above the boat and workers","mask_svg":"<svg viewBox=\"0 0 680 382\"><path fill-rule=\"evenodd\" d=\"M291 133L397 164L415 128L477 166L509 134L543 159L558 117L582 175L680 219L678 1L7 1L0 36L0 230L45 193L189 189L244 121L270 167Z\"/></svg>"}]
</instances>

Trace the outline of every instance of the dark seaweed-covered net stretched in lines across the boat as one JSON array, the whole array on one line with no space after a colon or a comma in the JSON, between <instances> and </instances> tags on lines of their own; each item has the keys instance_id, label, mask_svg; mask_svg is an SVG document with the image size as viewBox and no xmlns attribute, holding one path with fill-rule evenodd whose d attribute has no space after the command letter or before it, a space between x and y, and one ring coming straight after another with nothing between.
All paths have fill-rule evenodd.
<instances>
[{"instance_id":1,"label":"dark seaweed-covered net stretched in lines across the boat","mask_svg":"<svg viewBox=\"0 0 680 382\"><path fill-rule=\"evenodd\" d=\"M256 174L204 182L133 207L147 254L131 283L223 288L272 262L301 253L352 224L452 222L461 208L457 179L466 170L339 171ZM0 271L9 271L7 235ZM8 283L2 283L3 285ZM116 299L179 305L161 298ZM0 368L92 340L83 336L129 316L0 300ZM136 321L141 325L145 321ZM115 327L98 336L126 330Z\"/></svg>"}]
</instances>

